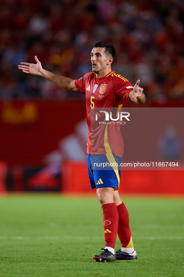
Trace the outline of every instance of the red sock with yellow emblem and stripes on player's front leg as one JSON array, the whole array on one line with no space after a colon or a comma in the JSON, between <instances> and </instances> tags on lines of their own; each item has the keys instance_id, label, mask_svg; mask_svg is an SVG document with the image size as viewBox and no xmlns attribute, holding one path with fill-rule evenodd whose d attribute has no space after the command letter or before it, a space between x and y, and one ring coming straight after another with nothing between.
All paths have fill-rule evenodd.
<instances>
[{"instance_id":1,"label":"red sock with yellow emblem and stripes on player's front leg","mask_svg":"<svg viewBox=\"0 0 184 277\"><path fill-rule=\"evenodd\" d=\"M115 203L109 203L102 206L103 227L106 246L115 248L117 229L118 229L118 211Z\"/></svg>"}]
</instances>

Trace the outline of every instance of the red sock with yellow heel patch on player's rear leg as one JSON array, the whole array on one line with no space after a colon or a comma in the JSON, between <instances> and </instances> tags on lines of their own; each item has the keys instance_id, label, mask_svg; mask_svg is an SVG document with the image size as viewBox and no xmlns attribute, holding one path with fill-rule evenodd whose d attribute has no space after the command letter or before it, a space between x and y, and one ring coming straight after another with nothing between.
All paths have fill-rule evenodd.
<instances>
[{"instance_id":1,"label":"red sock with yellow heel patch on player's rear leg","mask_svg":"<svg viewBox=\"0 0 184 277\"><path fill-rule=\"evenodd\" d=\"M121 242L121 247L134 247L129 225L129 215L125 204L122 202L117 206L117 210L119 215L117 234Z\"/></svg>"}]
</instances>

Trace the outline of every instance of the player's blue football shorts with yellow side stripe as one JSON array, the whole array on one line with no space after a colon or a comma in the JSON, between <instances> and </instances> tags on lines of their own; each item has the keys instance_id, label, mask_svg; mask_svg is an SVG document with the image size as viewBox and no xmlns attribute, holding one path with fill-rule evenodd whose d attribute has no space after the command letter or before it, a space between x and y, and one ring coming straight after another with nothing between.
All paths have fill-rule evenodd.
<instances>
[{"instance_id":1,"label":"player's blue football shorts with yellow side stripe","mask_svg":"<svg viewBox=\"0 0 184 277\"><path fill-rule=\"evenodd\" d=\"M92 189L110 187L119 189L122 157L109 152L101 155L87 154L87 170Z\"/></svg>"}]
</instances>

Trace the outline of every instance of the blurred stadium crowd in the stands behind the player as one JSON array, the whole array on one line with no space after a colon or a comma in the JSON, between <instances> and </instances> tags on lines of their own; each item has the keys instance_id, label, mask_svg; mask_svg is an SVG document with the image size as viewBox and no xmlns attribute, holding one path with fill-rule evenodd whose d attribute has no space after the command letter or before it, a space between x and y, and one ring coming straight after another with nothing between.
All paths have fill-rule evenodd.
<instances>
[{"instance_id":1,"label":"blurred stadium crowd in the stands behind the player","mask_svg":"<svg viewBox=\"0 0 184 277\"><path fill-rule=\"evenodd\" d=\"M91 72L94 42L116 48L112 70L147 98L184 96L183 0L0 0L0 97L83 97L18 70L20 62L73 79Z\"/></svg>"}]
</instances>

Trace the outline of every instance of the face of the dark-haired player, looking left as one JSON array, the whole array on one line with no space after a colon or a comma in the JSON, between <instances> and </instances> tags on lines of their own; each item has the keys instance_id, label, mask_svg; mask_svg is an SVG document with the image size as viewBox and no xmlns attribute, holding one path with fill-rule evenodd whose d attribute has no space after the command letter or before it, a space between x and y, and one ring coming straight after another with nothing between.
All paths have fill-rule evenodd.
<instances>
[{"instance_id":1,"label":"face of the dark-haired player, looking left","mask_svg":"<svg viewBox=\"0 0 184 277\"><path fill-rule=\"evenodd\" d=\"M93 47L91 52L92 72L100 72L105 69L108 63L106 58L105 48Z\"/></svg>"}]
</instances>

